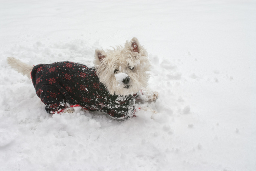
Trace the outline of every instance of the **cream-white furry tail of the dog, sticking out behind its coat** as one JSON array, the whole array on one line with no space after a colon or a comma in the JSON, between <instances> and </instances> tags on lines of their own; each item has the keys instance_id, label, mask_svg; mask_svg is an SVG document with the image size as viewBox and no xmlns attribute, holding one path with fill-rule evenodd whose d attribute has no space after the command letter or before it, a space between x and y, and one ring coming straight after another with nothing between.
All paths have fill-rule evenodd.
<instances>
[{"instance_id":1,"label":"cream-white furry tail of the dog, sticking out behind its coat","mask_svg":"<svg viewBox=\"0 0 256 171\"><path fill-rule=\"evenodd\" d=\"M22 73L22 75L26 75L27 77L31 78L30 73L33 69L33 66L25 64L14 57L8 57L7 62L16 71Z\"/></svg>"}]
</instances>

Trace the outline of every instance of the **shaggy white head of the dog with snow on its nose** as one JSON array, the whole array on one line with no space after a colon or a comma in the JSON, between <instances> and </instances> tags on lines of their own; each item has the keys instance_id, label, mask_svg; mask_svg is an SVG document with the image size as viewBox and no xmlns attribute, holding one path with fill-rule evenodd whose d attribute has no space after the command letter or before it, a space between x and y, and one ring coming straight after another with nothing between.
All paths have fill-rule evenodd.
<instances>
[{"instance_id":1,"label":"shaggy white head of the dog with snow on its nose","mask_svg":"<svg viewBox=\"0 0 256 171\"><path fill-rule=\"evenodd\" d=\"M99 81L111 94L129 95L147 86L150 64L147 51L134 37L124 47L95 51L95 68Z\"/></svg>"}]
</instances>

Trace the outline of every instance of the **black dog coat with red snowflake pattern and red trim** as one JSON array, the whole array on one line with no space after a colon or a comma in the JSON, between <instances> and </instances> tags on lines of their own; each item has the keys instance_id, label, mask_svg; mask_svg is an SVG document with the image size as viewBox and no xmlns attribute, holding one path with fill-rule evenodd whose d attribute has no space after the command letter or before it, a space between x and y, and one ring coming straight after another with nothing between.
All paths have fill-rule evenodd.
<instances>
[{"instance_id":1,"label":"black dog coat with red snowflake pattern and red trim","mask_svg":"<svg viewBox=\"0 0 256 171\"><path fill-rule=\"evenodd\" d=\"M39 64L31 71L37 96L48 113L61 112L70 106L82 106L91 111L102 111L114 118L134 115L134 95L111 95L99 82L95 68L73 62Z\"/></svg>"}]
</instances>

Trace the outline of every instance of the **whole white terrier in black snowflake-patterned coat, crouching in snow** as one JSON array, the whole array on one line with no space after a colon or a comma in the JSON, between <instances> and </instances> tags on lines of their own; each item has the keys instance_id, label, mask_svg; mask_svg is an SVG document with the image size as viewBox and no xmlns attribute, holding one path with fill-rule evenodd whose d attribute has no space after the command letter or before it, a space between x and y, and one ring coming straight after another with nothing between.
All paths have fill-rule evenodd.
<instances>
[{"instance_id":1,"label":"whole white terrier in black snowflake-patterned coat, crouching in snow","mask_svg":"<svg viewBox=\"0 0 256 171\"><path fill-rule=\"evenodd\" d=\"M81 106L116 119L127 119L135 116L136 99L153 101L158 94L142 91L148 84L150 63L138 39L134 37L124 47L112 48L95 50L93 68L68 61L36 66L13 57L7 61L12 68L31 77L37 96L50 114Z\"/></svg>"}]
</instances>

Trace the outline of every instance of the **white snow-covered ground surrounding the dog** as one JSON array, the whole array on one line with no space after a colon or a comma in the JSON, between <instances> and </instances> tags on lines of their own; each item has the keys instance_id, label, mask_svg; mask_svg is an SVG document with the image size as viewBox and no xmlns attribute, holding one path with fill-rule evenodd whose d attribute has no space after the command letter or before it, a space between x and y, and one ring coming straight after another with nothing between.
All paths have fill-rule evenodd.
<instances>
[{"instance_id":1,"label":"white snow-covered ground surrounding the dog","mask_svg":"<svg viewBox=\"0 0 256 171\"><path fill-rule=\"evenodd\" d=\"M7 65L72 61L136 36L152 63L150 105L123 122L49 116ZM256 2L1 0L0 170L256 170Z\"/></svg>"}]
</instances>

